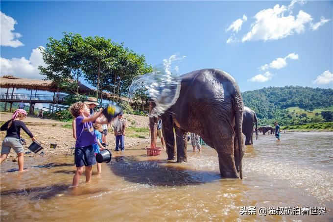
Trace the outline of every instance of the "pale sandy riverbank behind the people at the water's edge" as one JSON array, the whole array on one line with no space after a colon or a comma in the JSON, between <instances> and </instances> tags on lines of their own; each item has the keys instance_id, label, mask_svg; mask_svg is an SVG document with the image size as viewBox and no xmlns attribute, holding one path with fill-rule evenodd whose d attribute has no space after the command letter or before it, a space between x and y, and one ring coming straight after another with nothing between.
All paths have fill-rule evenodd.
<instances>
[{"instance_id":1,"label":"pale sandy riverbank behind the people at the water's edge","mask_svg":"<svg viewBox=\"0 0 333 222\"><path fill-rule=\"evenodd\" d=\"M10 119L11 114L9 113L1 113L0 121L7 121ZM135 115L124 115L127 120L128 126L133 127L148 127L148 117L143 116L135 116ZM24 119L24 123L26 123L27 127L34 134L37 141L44 148L44 155L73 155L74 153L74 145L75 139L72 137L71 128L65 128L62 125L69 123L62 123L55 120L49 119L40 119L34 116L28 116ZM6 131L0 132L0 143L2 144L3 138L6 136ZM26 145L24 146L24 152L29 151L28 146L31 144L31 140L28 135L21 130L21 137L26 140ZM126 148L142 148L148 145L150 139L148 139L148 135L146 138L137 138L137 137L125 137L125 149ZM56 143L57 147L50 148L51 143ZM111 129L109 129L107 135L107 148L110 150L115 149L115 136ZM143 146L138 146L143 144ZM41 152L39 152L41 153ZM40 154L27 153L25 156L35 156ZM16 153L11 150L8 156L8 160L15 159Z\"/></svg>"}]
</instances>

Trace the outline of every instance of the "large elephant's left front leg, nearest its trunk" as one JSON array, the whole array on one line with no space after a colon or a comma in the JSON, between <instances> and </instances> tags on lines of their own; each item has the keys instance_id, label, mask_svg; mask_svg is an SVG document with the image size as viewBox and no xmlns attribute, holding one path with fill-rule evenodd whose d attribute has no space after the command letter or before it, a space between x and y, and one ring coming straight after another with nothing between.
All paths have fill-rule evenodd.
<instances>
[{"instance_id":1,"label":"large elephant's left front leg, nearest its trunk","mask_svg":"<svg viewBox=\"0 0 333 222\"><path fill-rule=\"evenodd\" d=\"M173 134L172 117L167 115L162 117L162 133L166 142L167 160L175 159L175 138Z\"/></svg>"}]
</instances>

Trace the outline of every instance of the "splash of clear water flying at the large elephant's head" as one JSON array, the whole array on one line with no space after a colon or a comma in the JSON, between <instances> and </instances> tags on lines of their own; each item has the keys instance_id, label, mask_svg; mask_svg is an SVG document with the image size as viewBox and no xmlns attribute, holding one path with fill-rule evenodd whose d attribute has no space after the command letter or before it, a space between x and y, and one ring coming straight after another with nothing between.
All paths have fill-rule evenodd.
<instances>
[{"instance_id":1,"label":"splash of clear water flying at the large elephant's head","mask_svg":"<svg viewBox=\"0 0 333 222\"><path fill-rule=\"evenodd\" d=\"M138 90L146 90L149 100L155 103L149 117L159 117L176 103L180 87L181 77L165 72L154 72L135 76L129 93L132 97Z\"/></svg>"}]
</instances>

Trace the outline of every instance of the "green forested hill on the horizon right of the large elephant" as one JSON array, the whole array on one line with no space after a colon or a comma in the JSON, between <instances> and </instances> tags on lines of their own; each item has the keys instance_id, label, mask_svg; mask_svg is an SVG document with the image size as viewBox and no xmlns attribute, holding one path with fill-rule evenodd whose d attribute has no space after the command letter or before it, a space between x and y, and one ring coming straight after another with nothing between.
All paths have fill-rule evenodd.
<instances>
[{"instance_id":1,"label":"green forested hill on the horizon right of the large elephant","mask_svg":"<svg viewBox=\"0 0 333 222\"><path fill-rule=\"evenodd\" d=\"M268 87L242 93L245 106L260 119L274 119L288 107L313 111L333 106L333 89L301 86Z\"/></svg>"}]
</instances>

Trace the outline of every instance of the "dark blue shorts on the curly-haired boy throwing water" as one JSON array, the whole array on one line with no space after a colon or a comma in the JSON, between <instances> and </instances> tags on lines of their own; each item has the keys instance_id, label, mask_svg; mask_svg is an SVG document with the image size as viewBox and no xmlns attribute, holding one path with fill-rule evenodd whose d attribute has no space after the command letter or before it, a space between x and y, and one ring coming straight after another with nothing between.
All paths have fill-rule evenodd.
<instances>
[{"instance_id":1,"label":"dark blue shorts on the curly-haired boy throwing water","mask_svg":"<svg viewBox=\"0 0 333 222\"><path fill-rule=\"evenodd\" d=\"M87 147L76 147L74 154L76 167L89 167L96 164L95 151L92 145Z\"/></svg>"}]
</instances>

